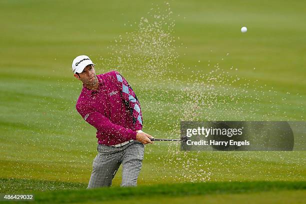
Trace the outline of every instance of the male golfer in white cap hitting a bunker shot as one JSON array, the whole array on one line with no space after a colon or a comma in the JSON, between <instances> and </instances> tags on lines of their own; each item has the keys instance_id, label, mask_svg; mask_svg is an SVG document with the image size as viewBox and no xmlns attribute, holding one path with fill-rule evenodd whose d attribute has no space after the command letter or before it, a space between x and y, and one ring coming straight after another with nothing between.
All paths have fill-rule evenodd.
<instances>
[{"instance_id":1,"label":"male golfer in white cap hitting a bunker shot","mask_svg":"<svg viewBox=\"0 0 306 204\"><path fill-rule=\"evenodd\" d=\"M95 75L86 55L73 59L74 77L83 83L76 110L96 128L97 155L87 188L110 186L122 163L121 186L135 186L142 165L144 144L151 135L141 131L140 103L117 71Z\"/></svg>"}]
</instances>

